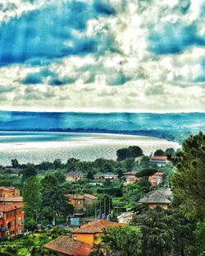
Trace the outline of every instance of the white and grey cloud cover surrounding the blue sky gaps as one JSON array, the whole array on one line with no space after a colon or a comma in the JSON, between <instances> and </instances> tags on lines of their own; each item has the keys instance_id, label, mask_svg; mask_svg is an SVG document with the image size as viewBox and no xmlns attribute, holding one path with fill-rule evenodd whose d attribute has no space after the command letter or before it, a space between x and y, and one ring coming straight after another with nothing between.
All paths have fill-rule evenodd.
<instances>
[{"instance_id":1,"label":"white and grey cloud cover surrounding the blue sky gaps","mask_svg":"<svg viewBox=\"0 0 205 256\"><path fill-rule=\"evenodd\" d=\"M7 11L8 17L40 8L40 1L35 4L17 1L22 3L21 8ZM7 2L11 4L12 1ZM46 68L55 78L65 81L62 86L51 86L49 74L38 85L22 84L21 81L29 73L40 72L45 67L17 64L1 67L1 99L4 95L3 100L0 100L1 109L134 112L205 110L205 82L194 82L204 73L201 63L205 49L192 45L180 54L162 55L151 53L148 49L150 30L158 31L167 22L180 22L182 26L194 24L199 35L204 35L203 18L199 17L203 1L193 0L186 14L182 14L180 1L176 0L106 2L116 10L115 16L93 18L88 21L86 30L73 30L72 34L80 40L84 36L95 37L103 33L112 37L113 50L109 49L103 54L64 57L48 64ZM185 4L187 2L182 7ZM6 17L1 14L1 19L5 20ZM99 37L99 40L103 42L103 38ZM102 43L98 47L105 46ZM6 86L11 90L7 91Z\"/></svg>"}]
</instances>

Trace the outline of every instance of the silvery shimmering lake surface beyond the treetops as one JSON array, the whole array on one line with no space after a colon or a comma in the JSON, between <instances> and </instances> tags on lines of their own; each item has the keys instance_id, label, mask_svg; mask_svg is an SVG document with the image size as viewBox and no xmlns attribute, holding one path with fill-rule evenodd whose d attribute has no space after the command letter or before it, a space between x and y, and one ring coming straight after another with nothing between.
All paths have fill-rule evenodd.
<instances>
[{"instance_id":1,"label":"silvery shimmering lake surface beyond the treetops","mask_svg":"<svg viewBox=\"0 0 205 256\"><path fill-rule=\"evenodd\" d=\"M66 162L75 157L94 161L103 157L116 160L116 151L122 147L139 146L145 155L159 148L175 149L180 145L157 137L104 133L0 132L0 165L11 165L16 158L21 164L54 161Z\"/></svg>"}]
</instances>

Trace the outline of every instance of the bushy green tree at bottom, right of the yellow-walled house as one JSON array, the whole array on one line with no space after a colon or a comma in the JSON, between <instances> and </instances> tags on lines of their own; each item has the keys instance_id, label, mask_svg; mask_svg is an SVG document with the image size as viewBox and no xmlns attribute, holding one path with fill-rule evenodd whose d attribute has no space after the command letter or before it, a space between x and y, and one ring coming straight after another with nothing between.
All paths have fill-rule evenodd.
<instances>
[{"instance_id":1,"label":"bushy green tree at bottom, right of the yellow-walled house","mask_svg":"<svg viewBox=\"0 0 205 256\"><path fill-rule=\"evenodd\" d=\"M107 255L141 255L141 231L137 226L109 226L103 229L102 242Z\"/></svg>"}]
</instances>

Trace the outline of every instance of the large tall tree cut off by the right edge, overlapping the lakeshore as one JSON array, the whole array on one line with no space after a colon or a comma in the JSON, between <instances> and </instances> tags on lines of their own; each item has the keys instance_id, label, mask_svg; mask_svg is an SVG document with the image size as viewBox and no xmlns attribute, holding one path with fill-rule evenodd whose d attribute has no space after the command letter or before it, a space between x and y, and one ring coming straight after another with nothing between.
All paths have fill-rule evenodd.
<instances>
[{"instance_id":1,"label":"large tall tree cut off by the right edge, overlapping the lakeshore","mask_svg":"<svg viewBox=\"0 0 205 256\"><path fill-rule=\"evenodd\" d=\"M205 217L205 135L189 137L182 150L171 160L175 174L171 183L175 198L180 198L180 205L194 216Z\"/></svg>"}]
</instances>

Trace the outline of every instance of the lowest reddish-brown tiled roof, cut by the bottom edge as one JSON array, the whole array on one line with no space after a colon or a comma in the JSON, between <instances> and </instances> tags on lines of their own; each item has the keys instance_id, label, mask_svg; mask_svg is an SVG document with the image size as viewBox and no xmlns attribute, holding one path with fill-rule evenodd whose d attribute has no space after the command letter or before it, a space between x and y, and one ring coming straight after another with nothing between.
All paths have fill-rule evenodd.
<instances>
[{"instance_id":1,"label":"lowest reddish-brown tiled roof, cut by the bottom edge","mask_svg":"<svg viewBox=\"0 0 205 256\"><path fill-rule=\"evenodd\" d=\"M62 235L44 244L45 249L51 249L58 253L72 256L88 256L91 252L91 245L79 241L73 241L69 236Z\"/></svg>"}]
</instances>

